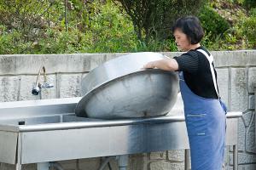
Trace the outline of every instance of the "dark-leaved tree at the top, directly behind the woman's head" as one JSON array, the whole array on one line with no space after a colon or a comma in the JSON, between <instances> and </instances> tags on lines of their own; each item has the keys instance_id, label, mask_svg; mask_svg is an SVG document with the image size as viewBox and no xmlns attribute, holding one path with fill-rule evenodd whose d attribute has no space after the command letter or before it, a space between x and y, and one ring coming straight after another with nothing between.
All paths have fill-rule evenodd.
<instances>
[{"instance_id":1,"label":"dark-leaved tree at the top, directly behind the woman's head","mask_svg":"<svg viewBox=\"0 0 256 170\"><path fill-rule=\"evenodd\" d=\"M177 18L197 15L207 0L113 0L130 15L138 39L165 40ZM117 4L119 4L117 3Z\"/></svg>"}]
</instances>

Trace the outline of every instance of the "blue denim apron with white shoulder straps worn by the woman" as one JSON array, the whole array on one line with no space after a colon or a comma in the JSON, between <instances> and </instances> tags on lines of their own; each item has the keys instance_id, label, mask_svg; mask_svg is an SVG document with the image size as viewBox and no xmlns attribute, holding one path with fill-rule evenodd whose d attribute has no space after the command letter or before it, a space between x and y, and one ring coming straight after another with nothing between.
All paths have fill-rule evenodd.
<instances>
[{"instance_id":1,"label":"blue denim apron with white shoulder straps worn by the woman","mask_svg":"<svg viewBox=\"0 0 256 170\"><path fill-rule=\"evenodd\" d=\"M212 55L202 49L197 51L204 54L211 65L212 80L218 94ZM194 94L184 82L182 71L179 77L189 135L191 170L221 170L224 161L225 105L219 97L206 99Z\"/></svg>"}]
</instances>

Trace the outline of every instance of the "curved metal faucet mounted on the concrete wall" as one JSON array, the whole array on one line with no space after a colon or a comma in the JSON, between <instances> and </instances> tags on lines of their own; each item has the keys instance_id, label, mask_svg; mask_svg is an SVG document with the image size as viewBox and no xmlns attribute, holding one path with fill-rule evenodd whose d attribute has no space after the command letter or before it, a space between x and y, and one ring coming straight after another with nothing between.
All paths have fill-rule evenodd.
<instances>
[{"instance_id":1,"label":"curved metal faucet mounted on the concrete wall","mask_svg":"<svg viewBox=\"0 0 256 170\"><path fill-rule=\"evenodd\" d=\"M39 82L39 77L40 77L42 71L43 71L43 74L44 74L43 84ZM54 87L54 85L52 83L47 82L45 67L42 66L40 68L40 70L38 71L37 82L32 88L32 94L38 95L39 92L41 91L41 88L53 88L53 87Z\"/></svg>"}]
</instances>

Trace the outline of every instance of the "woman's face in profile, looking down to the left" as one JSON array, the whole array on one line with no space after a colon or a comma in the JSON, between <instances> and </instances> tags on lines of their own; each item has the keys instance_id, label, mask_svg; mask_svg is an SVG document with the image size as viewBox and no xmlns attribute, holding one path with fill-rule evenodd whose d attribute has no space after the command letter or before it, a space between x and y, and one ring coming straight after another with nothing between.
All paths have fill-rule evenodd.
<instances>
[{"instance_id":1,"label":"woman's face in profile, looking down to the left","mask_svg":"<svg viewBox=\"0 0 256 170\"><path fill-rule=\"evenodd\" d=\"M186 34L180 29L176 29L173 33L177 48L180 51L189 51L190 42Z\"/></svg>"}]
</instances>

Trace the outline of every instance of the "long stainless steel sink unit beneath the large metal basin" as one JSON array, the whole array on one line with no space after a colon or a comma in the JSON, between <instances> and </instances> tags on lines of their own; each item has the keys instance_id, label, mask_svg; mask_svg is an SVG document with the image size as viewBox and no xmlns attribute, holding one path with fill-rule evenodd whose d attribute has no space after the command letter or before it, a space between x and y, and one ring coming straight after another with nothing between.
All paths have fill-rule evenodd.
<instances>
[{"instance_id":1,"label":"long stainless steel sink unit beneath the large metal basin","mask_svg":"<svg viewBox=\"0 0 256 170\"><path fill-rule=\"evenodd\" d=\"M119 120L77 117L74 108L80 99L0 103L0 162L20 170L26 163L189 149L183 115ZM176 108L182 107L174 105L173 111ZM239 116L241 112L227 115L226 144L234 146L235 165ZM189 160L187 154L185 160Z\"/></svg>"}]
</instances>

